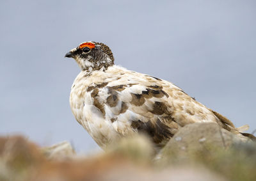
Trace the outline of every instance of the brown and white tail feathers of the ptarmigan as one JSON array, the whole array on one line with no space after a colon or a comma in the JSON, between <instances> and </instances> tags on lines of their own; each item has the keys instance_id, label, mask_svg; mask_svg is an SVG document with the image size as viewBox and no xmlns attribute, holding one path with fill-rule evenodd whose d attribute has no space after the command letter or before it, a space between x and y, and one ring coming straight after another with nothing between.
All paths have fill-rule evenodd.
<instances>
[{"instance_id":1,"label":"brown and white tail feathers of the ptarmigan","mask_svg":"<svg viewBox=\"0 0 256 181\"><path fill-rule=\"evenodd\" d=\"M220 113L217 113L215 111L212 111L212 113L214 113L214 115L217 118L219 118L219 120L221 122L220 124L224 129L227 129L230 132L233 132L235 134L242 134L243 136L250 138L252 141L256 142L256 137L253 134L243 132L244 130L249 129L249 125L243 125L241 127L236 128L235 125L230 120L228 120L228 118L226 118L225 116L223 116Z\"/></svg>"}]
</instances>

